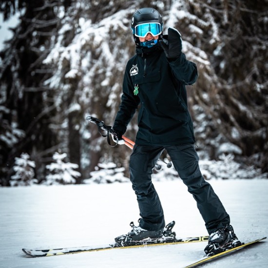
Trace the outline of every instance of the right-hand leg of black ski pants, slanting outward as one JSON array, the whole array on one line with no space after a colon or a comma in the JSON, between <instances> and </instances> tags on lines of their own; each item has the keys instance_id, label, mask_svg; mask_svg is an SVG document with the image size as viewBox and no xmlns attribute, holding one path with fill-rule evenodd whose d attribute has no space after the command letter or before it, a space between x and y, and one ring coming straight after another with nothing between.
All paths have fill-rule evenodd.
<instances>
[{"instance_id":1,"label":"right-hand leg of black ski pants, slanting outward","mask_svg":"<svg viewBox=\"0 0 268 268\"><path fill-rule=\"evenodd\" d=\"M176 171L196 200L197 208L205 221L209 234L230 224L230 217L219 197L200 172L199 157L194 145L182 144L166 149L172 158Z\"/></svg>"}]
</instances>

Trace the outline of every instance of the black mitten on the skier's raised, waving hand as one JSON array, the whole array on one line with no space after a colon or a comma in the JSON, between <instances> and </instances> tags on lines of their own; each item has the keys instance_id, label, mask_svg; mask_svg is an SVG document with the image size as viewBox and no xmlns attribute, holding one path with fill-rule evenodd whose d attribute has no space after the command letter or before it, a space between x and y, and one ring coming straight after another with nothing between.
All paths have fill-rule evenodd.
<instances>
[{"instance_id":1,"label":"black mitten on the skier's raised, waving hand","mask_svg":"<svg viewBox=\"0 0 268 268\"><path fill-rule=\"evenodd\" d=\"M163 48L167 58L176 58L181 55L182 50L182 40L181 35L178 30L174 28L169 28L168 30L168 38L166 40L160 40L159 43Z\"/></svg>"}]
</instances>

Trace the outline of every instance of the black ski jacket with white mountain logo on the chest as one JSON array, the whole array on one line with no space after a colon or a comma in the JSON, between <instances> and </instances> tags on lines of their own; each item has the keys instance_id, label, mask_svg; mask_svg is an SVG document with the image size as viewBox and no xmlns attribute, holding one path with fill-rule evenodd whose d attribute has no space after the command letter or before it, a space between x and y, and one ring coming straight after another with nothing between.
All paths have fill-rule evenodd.
<instances>
[{"instance_id":1,"label":"black ski jacket with white mountain logo on the chest","mask_svg":"<svg viewBox=\"0 0 268 268\"><path fill-rule=\"evenodd\" d=\"M194 143L185 85L196 79L196 65L183 53L168 60L159 44L150 49L137 47L136 55L126 66L123 95L113 128L124 134L140 104L136 144ZM134 86L138 86L136 96Z\"/></svg>"}]
</instances>

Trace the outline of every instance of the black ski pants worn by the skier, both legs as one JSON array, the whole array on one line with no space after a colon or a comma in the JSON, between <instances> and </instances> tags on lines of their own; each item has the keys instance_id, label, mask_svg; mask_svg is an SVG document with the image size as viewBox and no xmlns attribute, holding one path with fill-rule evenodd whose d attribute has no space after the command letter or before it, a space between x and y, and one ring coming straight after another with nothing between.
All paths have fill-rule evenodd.
<instances>
[{"instance_id":1,"label":"black ski pants worn by the skier, both legs","mask_svg":"<svg viewBox=\"0 0 268 268\"><path fill-rule=\"evenodd\" d=\"M160 230L165 226L164 212L151 177L153 168L164 149L167 150L174 168L195 199L209 234L230 224L230 217L219 197L200 172L199 157L193 144L165 147L136 144L130 156L130 180L139 205L140 227L145 230Z\"/></svg>"}]
</instances>

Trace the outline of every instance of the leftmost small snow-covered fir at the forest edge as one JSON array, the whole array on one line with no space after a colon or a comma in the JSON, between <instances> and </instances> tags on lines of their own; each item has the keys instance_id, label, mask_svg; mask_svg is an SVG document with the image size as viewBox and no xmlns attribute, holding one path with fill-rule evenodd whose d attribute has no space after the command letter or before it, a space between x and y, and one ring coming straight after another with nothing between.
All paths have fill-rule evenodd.
<instances>
[{"instance_id":1,"label":"leftmost small snow-covered fir at the forest edge","mask_svg":"<svg viewBox=\"0 0 268 268\"><path fill-rule=\"evenodd\" d=\"M37 183L37 179L34 178L36 164L30 160L28 153L21 153L20 157L15 158L15 165L13 170L15 174L11 176L11 186L25 186Z\"/></svg>"}]
</instances>

